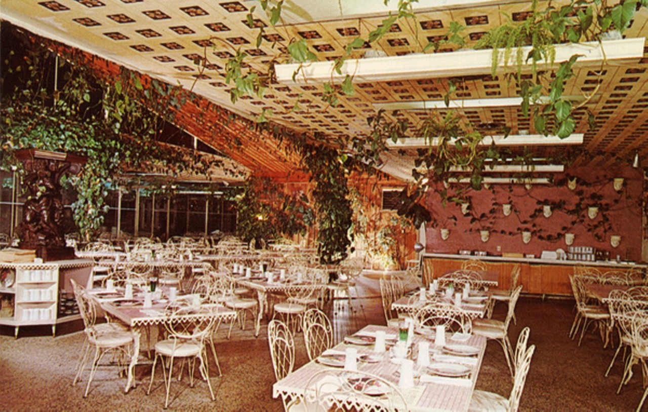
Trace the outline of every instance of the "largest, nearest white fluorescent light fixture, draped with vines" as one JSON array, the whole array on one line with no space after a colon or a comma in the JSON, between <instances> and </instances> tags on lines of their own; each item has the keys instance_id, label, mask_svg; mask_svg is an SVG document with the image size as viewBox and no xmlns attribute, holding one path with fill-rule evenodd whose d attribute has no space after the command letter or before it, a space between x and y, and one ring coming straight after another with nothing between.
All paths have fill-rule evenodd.
<instances>
[{"instance_id":1,"label":"largest, nearest white fluorescent light fixture, draped with vines","mask_svg":"<svg viewBox=\"0 0 648 412\"><path fill-rule=\"evenodd\" d=\"M603 60L639 59L643 57L645 38L607 40L558 44L555 46L555 64L581 55L577 65L600 64ZM531 47L522 47L526 56ZM515 53L514 53L515 54ZM500 67L503 67L504 49L501 49ZM380 82L388 80L429 79L457 75L489 75L492 50L467 50L452 53L411 54L376 58L346 60L340 72L333 69L334 62L311 62L305 64L277 64L277 81L283 84L321 84L331 80L341 82L351 75L355 82ZM544 64L538 62L538 66ZM515 62L509 62L515 66ZM531 64L525 65L530 69ZM295 74L296 73L296 74Z\"/></svg>"}]
</instances>

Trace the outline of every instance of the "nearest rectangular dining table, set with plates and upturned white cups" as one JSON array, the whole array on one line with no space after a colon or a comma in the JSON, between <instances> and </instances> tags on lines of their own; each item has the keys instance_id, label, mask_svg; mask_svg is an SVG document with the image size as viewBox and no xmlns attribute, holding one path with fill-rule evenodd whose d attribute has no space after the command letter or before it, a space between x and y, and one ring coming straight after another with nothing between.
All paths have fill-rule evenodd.
<instances>
[{"instance_id":1,"label":"nearest rectangular dining table, set with plates and upturned white cups","mask_svg":"<svg viewBox=\"0 0 648 412\"><path fill-rule=\"evenodd\" d=\"M373 351L372 338L375 340L376 332L381 330L385 332L388 342L390 338L395 341L395 337L399 333L397 329L388 326L365 326L330 350L323 352L318 358L276 382L273 385L273 397L281 397L284 402L296 398L303 399L307 384L312 376L327 368L340 369L344 366L343 361L336 366L331 366L335 364L325 361L330 357L327 353L345 354L349 347L357 350L358 371L378 376L399 388L399 358L393 357L393 350L390 349L386 352ZM430 343L430 366L415 369L413 387L399 388L407 402L407 410L467 411L481 367L486 339L477 335L446 332L446 345L435 346L434 337L415 333L411 338L413 347L416 347L421 341ZM366 356L364 359L370 360L362 361L363 356ZM465 373L443 372L446 368L449 368L448 370L462 369L465 370ZM353 372L349 373L353 375ZM340 402L343 400L340 399Z\"/></svg>"}]
</instances>

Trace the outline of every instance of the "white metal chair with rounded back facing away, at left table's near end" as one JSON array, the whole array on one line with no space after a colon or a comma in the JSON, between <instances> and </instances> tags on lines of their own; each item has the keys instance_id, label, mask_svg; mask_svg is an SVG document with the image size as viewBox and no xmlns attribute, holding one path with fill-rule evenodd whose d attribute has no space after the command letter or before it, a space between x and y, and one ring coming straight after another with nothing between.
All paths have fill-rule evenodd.
<instances>
[{"instance_id":1,"label":"white metal chair with rounded back facing away, at left table's near end","mask_svg":"<svg viewBox=\"0 0 648 412\"><path fill-rule=\"evenodd\" d=\"M196 313L196 310L206 313ZM173 363L176 358L189 360L189 385L191 385L191 387L194 385L196 361L200 361L198 370L200 371L202 378L207 381L211 400L215 400L214 390L212 389L209 380L207 346L205 343L212 332L216 317L212 313L209 313L209 310L209 307L201 307L200 309L197 309L191 306L176 306L175 308L170 309L170 313L168 313L169 319L165 322L168 337L163 341L157 342L155 345L156 357L153 361L148 391L146 391L146 394L151 393L151 387L156 374L157 360L160 359L162 371L164 373L165 389L167 391L165 409L168 407L168 396L171 389L171 377L173 375ZM167 358L167 363L165 363L163 358ZM178 380L181 378L182 371L183 368L180 369Z\"/></svg>"}]
</instances>

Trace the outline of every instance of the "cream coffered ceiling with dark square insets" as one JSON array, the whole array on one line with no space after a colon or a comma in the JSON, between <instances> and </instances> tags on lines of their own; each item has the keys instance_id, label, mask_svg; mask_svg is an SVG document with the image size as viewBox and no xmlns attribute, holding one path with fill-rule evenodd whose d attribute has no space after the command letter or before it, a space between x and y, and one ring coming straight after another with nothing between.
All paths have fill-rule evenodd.
<instances>
[{"instance_id":1,"label":"cream coffered ceiling with dark square insets","mask_svg":"<svg viewBox=\"0 0 648 412\"><path fill-rule=\"evenodd\" d=\"M392 0L389 6L395 8L396 3ZM428 41L446 34L451 21L467 27L465 34L472 45L484 32L500 25L504 14L524 19L530 4L529 1L420 1L417 20L401 19L375 48L387 56L420 53ZM263 98L246 96L232 104L229 99L232 86L225 81L224 67L237 49L248 53L251 68L260 72L267 71L268 62L277 56L277 62L286 61L286 45L291 40L305 39L319 61L333 60L343 54L351 40L366 37L378 27L388 12L382 0L295 0L286 1L284 21L277 27L270 27L268 16L259 10L250 27L246 16L253 6L260 9L257 1L251 0L2 0L0 16L41 36L191 88L213 103L250 119L255 119L265 108L272 110L273 121L331 139L340 135L365 136L370 130L367 117L375 114L378 104L438 101L445 95L447 76L358 82L355 94L340 95L336 107L321 101L323 86L314 83L272 84ZM540 8L544 6L546 3ZM263 37L267 42L257 49L259 27L264 27ZM624 36L645 38L647 35L648 10L643 8ZM364 51L356 57L362 57L360 53ZM643 52L643 56L630 61L579 67L575 78L566 85L566 95L583 96L596 91L596 97L575 112L576 132L584 134L582 147L592 154L579 159L579 164L609 165L614 158L631 161L637 152L642 157L648 156L648 48ZM452 49L441 49L438 53L452 53ZM452 77L462 82L457 99L517 95L515 81L502 75L466 76L457 72ZM294 110L295 104L298 110ZM594 130L588 128L586 109L596 115ZM402 118L413 122L426 115L426 110L400 112ZM532 119L523 117L518 106L465 108L463 116L477 127L505 125L514 134L535 132ZM542 157L562 149L538 150L538 156ZM403 171L411 170L407 152L394 149L386 161L388 173L399 169L402 175Z\"/></svg>"}]
</instances>

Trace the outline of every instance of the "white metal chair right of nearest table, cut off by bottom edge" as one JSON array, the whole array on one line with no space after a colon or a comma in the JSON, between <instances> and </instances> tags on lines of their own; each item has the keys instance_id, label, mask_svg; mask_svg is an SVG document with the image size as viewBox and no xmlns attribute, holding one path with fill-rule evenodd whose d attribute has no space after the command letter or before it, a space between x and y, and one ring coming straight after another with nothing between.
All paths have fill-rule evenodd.
<instances>
[{"instance_id":1,"label":"white metal chair right of nearest table, cut off by bottom edge","mask_svg":"<svg viewBox=\"0 0 648 412\"><path fill-rule=\"evenodd\" d=\"M528 328L526 328L528 330ZM524 383L526 382L529 367L531 366L531 357L535 352L535 345L526 348L528 339L528 332L522 331L518 345L516 346L516 365L515 376L513 378L513 389L509 398L504 398L500 394L487 392L487 391L474 391L470 399L470 412L476 411L503 411L515 412L520 407L520 397L524 390Z\"/></svg>"}]
</instances>

